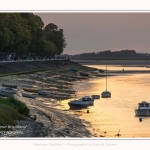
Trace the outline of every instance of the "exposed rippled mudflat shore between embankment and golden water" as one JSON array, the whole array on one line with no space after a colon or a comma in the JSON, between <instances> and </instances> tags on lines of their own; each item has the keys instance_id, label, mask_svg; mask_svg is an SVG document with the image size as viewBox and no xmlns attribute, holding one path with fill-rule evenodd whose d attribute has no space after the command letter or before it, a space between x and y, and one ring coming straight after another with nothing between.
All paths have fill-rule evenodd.
<instances>
[{"instance_id":1,"label":"exposed rippled mudflat shore between embankment and golden water","mask_svg":"<svg viewBox=\"0 0 150 150\"><path fill-rule=\"evenodd\" d=\"M74 81L88 80L89 78L99 76L98 70L95 68L85 67L71 61L67 61L65 63L66 64L64 65L63 61L59 61L59 64L57 63L56 65L56 62L54 61L47 63L45 62L44 64L47 66L47 68L44 68L45 71L41 71L43 68L38 67L37 63L36 65L33 65L32 63L32 67L37 67L36 72L32 72L33 68L35 67L31 69L31 65L29 65L30 67L27 65L24 68L28 69L22 69L23 71L26 71L26 74L20 73L21 67L19 67L18 70L17 68L15 69L16 75L0 77L0 84L15 84L18 86L18 92L15 97L26 103L30 109L31 117L36 117L36 121L30 119L18 121L20 128L14 128L13 132L2 135L3 137L67 138L94 136L88 130L88 127L91 126L90 122L81 120L78 115L72 111L62 111L57 109L57 106L60 105L59 101L61 100L74 98ZM24 66L25 64L21 65ZM15 64L14 66L11 64L11 66L15 68ZM29 68L31 70L29 70ZM86 72L88 73L88 76L82 76L78 72L71 72L69 70L70 68L76 68L79 72ZM19 74L17 74L17 72ZM3 72L1 72L1 74L3 74ZM43 89L50 92L50 95L38 95L36 99L25 98L22 97L21 94L21 92L25 92L23 88Z\"/></svg>"}]
</instances>

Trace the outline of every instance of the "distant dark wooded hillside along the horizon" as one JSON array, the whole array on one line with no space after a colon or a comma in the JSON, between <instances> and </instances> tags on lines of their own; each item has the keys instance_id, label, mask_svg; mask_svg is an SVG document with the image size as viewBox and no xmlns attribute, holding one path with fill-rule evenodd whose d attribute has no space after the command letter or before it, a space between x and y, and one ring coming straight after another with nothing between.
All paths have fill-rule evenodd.
<instances>
[{"instance_id":1,"label":"distant dark wooded hillside along the horizon","mask_svg":"<svg viewBox=\"0 0 150 150\"><path fill-rule=\"evenodd\" d=\"M110 50L92 53L82 53L78 55L71 55L73 58L146 58L147 53L136 53L135 50L121 50L111 52Z\"/></svg>"}]
</instances>

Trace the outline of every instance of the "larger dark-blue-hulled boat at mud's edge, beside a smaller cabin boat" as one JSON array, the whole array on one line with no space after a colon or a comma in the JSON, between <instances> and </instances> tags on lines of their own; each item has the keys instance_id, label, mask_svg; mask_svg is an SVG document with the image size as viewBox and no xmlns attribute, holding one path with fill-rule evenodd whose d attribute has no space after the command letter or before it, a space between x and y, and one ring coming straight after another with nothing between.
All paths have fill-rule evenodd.
<instances>
[{"instance_id":1,"label":"larger dark-blue-hulled boat at mud's edge, beside a smaller cabin boat","mask_svg":"<svg viewBox=\"0 0 150 150\"><path fill-rule=\"evenodd\" d=\"M82 100L72 100L68 102L68 105L71 109L82 109L89 106L89 102Z\"/></svg>"}]
</instances>

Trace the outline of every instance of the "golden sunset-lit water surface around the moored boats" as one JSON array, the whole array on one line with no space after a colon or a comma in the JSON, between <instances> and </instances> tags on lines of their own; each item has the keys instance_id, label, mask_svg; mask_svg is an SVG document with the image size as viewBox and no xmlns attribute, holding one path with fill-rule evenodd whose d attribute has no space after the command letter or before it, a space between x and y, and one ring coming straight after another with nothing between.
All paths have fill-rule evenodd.
<instances>
[{"instance_id":1,"label":"golden sunset-lit water surface around the moored boats","mask_svg":"<svg viewBox=\"0 0 150 150\"><path fill-rule=\"evenodd\" d=\"M103 68L104 65L90 65ZM108 69L120 70L121 66L108 66ZM145 67L124 67L130 70L145 70ZM147 68L148 69L148 68ZM120 130L120 137L150 137L150 117L143 117L142 122L135 116L134 108L141 101L150 102L150 74L120 74L107 78L107 87L111 91L111 98L100 98L89 107L89 113L82 110L81 118L89 121L97 136L116 137ZM74 86L77 98L85 95L101 94L106 90L106 78L92 78L78 81ZM63 101L64 108L68 101Z\"/></svg>"}]
</instances>

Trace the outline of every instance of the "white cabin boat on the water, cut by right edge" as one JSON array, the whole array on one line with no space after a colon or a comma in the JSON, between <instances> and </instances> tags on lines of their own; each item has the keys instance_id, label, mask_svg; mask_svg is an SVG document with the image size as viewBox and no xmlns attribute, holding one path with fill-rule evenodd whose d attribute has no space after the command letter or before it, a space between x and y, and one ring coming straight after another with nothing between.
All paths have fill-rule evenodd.
<instances>
[{"instance_id":1,"label":"white cabin boat on the water, cut by right edge","mask_svg":"<svg viewBox=\"0 0 150 150\"><path fill-rule=\"evenodd\" d=\"M137 108L135 108L136 116L150 116L150 103L142 101L138 103Z\"/></svg>"}]
</instances>

